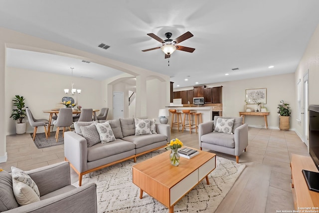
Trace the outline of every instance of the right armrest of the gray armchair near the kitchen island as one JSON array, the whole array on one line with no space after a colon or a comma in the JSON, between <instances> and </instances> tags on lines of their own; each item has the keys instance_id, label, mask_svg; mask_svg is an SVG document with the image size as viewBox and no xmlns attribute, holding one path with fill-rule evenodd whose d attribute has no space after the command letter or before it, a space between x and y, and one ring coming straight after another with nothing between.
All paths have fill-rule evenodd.
<instances>
[{"instance_id":1,"label":"right armrest of the gray armchair near the kitchen island","mask_svg":"<svg viewBox=\"0 0 319 213\"><path fill-rule=\"evenodd\" d=\"M234 132L235 155L239 156L248 146L248 125L243 124Z\"/></svg>"}]
</instances>

